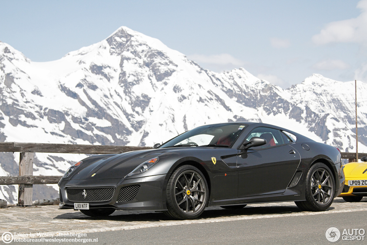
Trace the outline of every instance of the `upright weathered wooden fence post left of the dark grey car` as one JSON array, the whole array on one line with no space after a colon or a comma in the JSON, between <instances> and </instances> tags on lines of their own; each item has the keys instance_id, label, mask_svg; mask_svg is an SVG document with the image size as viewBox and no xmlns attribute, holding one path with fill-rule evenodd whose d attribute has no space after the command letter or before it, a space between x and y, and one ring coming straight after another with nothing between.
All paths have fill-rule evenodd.
<instances>
[{"instance_id":1,"label":"upright weathered wooden fence post left of the dark grey car","mask_svg":"<svg viewBox=\"0 0 367 245\"><path fill-rule=\"evenodd\" d=\"M21 152L19 176L33 175L33 152ZM19 185L18 206L32 205L33 185Z\"/></svg>"}]
</instances>

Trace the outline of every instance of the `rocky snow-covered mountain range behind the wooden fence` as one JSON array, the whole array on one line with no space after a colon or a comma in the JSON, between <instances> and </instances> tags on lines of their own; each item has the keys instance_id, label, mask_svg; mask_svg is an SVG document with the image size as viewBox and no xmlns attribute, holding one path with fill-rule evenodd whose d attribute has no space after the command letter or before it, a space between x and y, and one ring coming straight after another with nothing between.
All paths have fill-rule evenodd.
<instances>
[{"instance_id":1,"label":"rocky snow-covered mountain range behind the wooden fence","mask_svg":"<svg viewBox=\"0 0 367 245\"><path fill-rule=\"evenodd\" d=\"M367 84L357 86L359 151L366 151ZM258 121L355 150L354 82L314 74L284 90L243 68L205 70L124 26L50 62L0 42L0 92L0 141L145 146L208 123ZM83 157L37 153L34 175L61 175ZM0 176L18 174L19 154L0 159ZM34 189L35 199L57 196L52 187ZM17 202L16 187L0 186L0 199Z\"/></svg>"}]
</instances>

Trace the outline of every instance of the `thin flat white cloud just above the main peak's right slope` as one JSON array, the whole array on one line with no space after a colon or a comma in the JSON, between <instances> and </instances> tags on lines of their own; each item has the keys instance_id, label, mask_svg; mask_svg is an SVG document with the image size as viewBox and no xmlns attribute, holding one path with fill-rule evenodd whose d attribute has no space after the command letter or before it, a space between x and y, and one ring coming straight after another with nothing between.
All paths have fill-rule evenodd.
<instances>
[{"instance_id":1,"label":"thin flat white cloud just above the main peak's right slope","mask_svg":"<svg viewBox=\"0 0 367 245\"><path fill-rule=\"evenodd\" d=\"M214 55L193 54L188 55L188 58L198 63L206 63L213 65L242 66L245 64L243 61L236 59L230 54L214 54Z\"/></svg>"}]
</instances>

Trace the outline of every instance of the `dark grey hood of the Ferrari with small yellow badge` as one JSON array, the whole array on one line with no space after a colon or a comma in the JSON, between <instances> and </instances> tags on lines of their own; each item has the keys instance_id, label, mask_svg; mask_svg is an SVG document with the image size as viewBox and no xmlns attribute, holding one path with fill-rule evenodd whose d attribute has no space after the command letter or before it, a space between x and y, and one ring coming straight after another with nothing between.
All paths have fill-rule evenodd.
<instances>
[{"instance_id":1,"label":"dark grey hood of the Ferrari with small yellow badge","mask_svg":"<svg viewBox=\"0 0 367 245\"><path fill-rule=\"evenodd\" d=\"M172 151L174 151L172 148L131 151L92 162L88 162L86 158L83 160L86 164L83 163L77 167L75 173L65 180L122 179L141 163Z\"/></svg>"}]
</instances>

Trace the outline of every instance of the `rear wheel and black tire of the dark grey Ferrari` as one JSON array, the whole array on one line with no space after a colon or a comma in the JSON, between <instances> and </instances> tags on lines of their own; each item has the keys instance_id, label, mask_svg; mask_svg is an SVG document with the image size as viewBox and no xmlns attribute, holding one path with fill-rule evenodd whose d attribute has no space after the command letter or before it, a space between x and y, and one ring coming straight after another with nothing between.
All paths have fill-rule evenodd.
<instances>
[{"instance_id":1,"label":"rear wheel and black tire of the dark grey Ferrari","mask_svg":"<svg viewBox=\"0 0 367 245\"><path fill-rule=\"evenodd\" d=\"M305 181L306 201L295 202L303 211L324 211L333 203L335 195L334 176L321 162L310 167Z\"/></svg>"}]
</instances>

